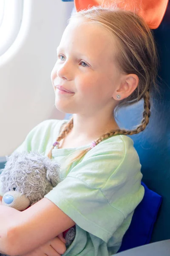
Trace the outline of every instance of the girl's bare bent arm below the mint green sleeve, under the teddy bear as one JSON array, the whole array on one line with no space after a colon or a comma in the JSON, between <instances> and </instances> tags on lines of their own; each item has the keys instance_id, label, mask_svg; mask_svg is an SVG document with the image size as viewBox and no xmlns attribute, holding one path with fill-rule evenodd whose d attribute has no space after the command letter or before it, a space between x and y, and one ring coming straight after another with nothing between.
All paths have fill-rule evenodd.
<instances>
[{"instance_id":1,"label":"girl's bare bent arm below the mint green sleeve, under the teddy bear","mask_svg":"<svg viewBox=\"0 0 170 256\"><path fill-rule=\"evenodd\" d=\"M10 255L26 254L75 225L68 215L47 198L19 212L13 222L15 225L10 229L8 240Z\"/></svg>"}]
</instances>

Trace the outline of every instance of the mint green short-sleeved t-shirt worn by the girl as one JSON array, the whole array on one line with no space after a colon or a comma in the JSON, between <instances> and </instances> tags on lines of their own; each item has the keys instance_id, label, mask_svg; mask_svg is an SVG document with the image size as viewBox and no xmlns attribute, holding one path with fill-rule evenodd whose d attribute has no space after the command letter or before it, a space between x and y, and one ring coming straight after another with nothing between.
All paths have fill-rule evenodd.
<instances>
[{"instance_id":1,"label":"mint green short-sleeved t-shirt worn by the girl","mask_svg":"<svg viewBox=\"0 0 170 256\"><path fill-rule=\"evenodd\" d=\"M16 151L38 151L47 155L61 125L67 121L41 122ZM134 209L144 196L139 156L133 140L125 135L103 140L66 172L69 161L89 146L52 151L52 161L61 165L61 180L45 198L76 223L75 239L64 256L115 254Z\"/></svg>"}]
</instances>

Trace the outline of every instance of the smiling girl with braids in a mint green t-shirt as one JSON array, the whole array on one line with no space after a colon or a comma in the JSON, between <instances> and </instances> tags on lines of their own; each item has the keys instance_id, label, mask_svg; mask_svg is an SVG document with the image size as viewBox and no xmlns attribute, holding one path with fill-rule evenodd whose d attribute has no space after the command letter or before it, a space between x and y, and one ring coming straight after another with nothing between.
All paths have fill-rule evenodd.
<instances>
[{"instance_id":1,"label":"smiling girl with braids in a mint green t-shirt","mask_svg":"<svg viewBox=\"0 0 170 256\"><path fill-rule=\"evenodd\" d=\"M70 18L51 81L56 108L73 116L41 122L17 148L58 161L61 182L23 212L0 206L0 252L59 255L65 249L56 237L74 225L76 237L64 255L119 250L144 196L139 157L126 135L138 134L149 122L156 69L153 35L142 17L98 6ZM142 98L141 124L120 129L113 111Z\"/></svg>"}]
</instances>

